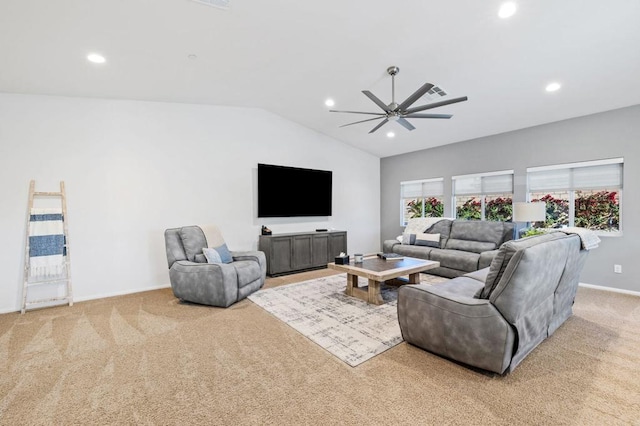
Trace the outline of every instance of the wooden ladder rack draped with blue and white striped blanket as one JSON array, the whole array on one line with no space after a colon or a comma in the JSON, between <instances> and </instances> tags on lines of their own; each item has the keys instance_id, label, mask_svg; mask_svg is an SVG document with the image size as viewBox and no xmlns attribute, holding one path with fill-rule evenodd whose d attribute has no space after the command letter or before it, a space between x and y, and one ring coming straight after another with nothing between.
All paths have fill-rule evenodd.
<instances>
[{"instance_id":1,"label":"wooden ladder rack draped with blue and white striped blanket","mask_svg":"<svg viewBox=\"0 0 640 426\"><path fill-rule=\"evenodd\" d=\"M61 208L34 209L34 199L38 197L60 199ZM29 184L29 206L27 209L27 229L24 257L24 281L22 288L21 313L29 307L64 300L73 306L71 289L71 252L67 225L67 197L64 182L60 182L59 192L39 192L35 181ZM66 284L66 294L31 300L27 298L29 288L46 284Z\"/></svg>"}]
</instances>

